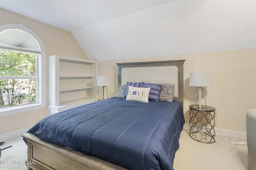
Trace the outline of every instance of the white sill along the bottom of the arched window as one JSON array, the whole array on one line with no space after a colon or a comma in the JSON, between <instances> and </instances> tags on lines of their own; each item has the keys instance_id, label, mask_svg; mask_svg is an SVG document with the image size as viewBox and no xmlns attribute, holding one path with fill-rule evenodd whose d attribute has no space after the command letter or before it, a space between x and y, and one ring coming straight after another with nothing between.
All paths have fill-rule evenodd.
<instances>
[{"instance_id":1,"label":"white sill along the bottom of the arched window","mask_svg":"<svg viewBox=\"0 0 256 170\"><path fill-rule=\"evenodd\" d=\"M8 116L8 115L14 115L26 111L32 111L36 109L42 109L44 108L46 104L28 104L24 106L17 106L12 108L6 108L6 109L0 109L0 117Z\"/></svg>"}]
</instances>

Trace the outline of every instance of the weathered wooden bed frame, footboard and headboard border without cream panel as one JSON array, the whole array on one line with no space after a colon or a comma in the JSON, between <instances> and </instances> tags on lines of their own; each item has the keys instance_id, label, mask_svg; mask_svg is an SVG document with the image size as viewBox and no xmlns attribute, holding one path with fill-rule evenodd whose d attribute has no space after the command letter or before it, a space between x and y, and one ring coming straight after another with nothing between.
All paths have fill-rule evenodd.
<instances>
[{"instance_id":1,"label":"weathered wooden bed frame, footboard and headboard border without cream panel","mask_svg":"<svg viewBox=\"0 0 256 170\"><path fill-rule=\"evenodd\" d=\"M178 96L174 98L183 106L183 63L185 60L154 61L139 63L117 63L118 86L122 85L122 68L125 67L150 67L150 66L177 66L178 67ZM136 75L138 76L138 75ZM166 82L162 82L166 83ZM28 170L125 170L120 166L106 162L99 158L83 154L66 147L47 143L36 135L25 133L22 135L28 144Z\"/></svg>"}]
</instances>

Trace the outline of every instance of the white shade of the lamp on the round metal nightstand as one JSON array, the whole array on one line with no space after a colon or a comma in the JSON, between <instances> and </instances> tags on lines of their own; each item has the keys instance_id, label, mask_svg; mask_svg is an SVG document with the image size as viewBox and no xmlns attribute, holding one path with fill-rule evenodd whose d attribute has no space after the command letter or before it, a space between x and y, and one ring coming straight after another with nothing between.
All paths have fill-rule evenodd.
<instances>
[{"instance_id":1,"label":"white shade of the lamp on the round metal nightstand","mask_svg":"<svg viewBox=\"0 0 256 170\"><path fill-rule=\"evenodd\" d=\"M189 78L189 86L206 87L212 86L212 78L210 72L191 72Z\"/></svg>"}]
</instances>

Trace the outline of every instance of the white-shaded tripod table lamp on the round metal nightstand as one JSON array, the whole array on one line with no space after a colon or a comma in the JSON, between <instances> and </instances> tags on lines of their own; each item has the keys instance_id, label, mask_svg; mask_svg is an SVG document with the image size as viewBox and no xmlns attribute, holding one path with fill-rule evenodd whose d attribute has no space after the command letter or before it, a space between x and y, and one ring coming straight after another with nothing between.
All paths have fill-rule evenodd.
<instances>
[{"instance_id":1,"label":"white-shaded tripod table lamp on the round metal nightstand","mask_svg":"<svg viewBox=\"0 0 256 170\"><path fill-rule=\"evenodd\" d=\"M197 95L197 92L199 92L199 109L201 109L202 108L201 89L203 90L203 94L204 94L203 87L212 86L211 73L210 72L191 72L190 78L189 78L189 86L197 86L196 95ZM207 107L205 95L204 95L204 101L205 101L205 106ZM196 96L194 100L194 105L195 105L195 102L196 102Z\"/></svg>"}]
</instances>

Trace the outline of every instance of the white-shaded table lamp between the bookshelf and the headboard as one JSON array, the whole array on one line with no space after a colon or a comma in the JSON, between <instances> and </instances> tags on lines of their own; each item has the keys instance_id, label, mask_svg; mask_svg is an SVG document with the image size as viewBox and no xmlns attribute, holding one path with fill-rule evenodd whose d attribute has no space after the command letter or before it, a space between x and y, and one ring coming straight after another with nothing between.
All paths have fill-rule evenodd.
<instances>
[{"instance_id":1,"label":"white-shaded table lamp between the bookshelf and the headboard","mask_svg":"<svg viewBox=\"0 0 256 170\"><path fill-rule=\"evenodd\" d=\"M107 86L111 85L110 76L98 76L97 86L102 86L100 100L108 98Z\"/></svg>"}]
</instances>

